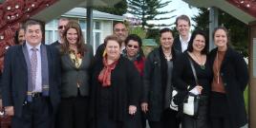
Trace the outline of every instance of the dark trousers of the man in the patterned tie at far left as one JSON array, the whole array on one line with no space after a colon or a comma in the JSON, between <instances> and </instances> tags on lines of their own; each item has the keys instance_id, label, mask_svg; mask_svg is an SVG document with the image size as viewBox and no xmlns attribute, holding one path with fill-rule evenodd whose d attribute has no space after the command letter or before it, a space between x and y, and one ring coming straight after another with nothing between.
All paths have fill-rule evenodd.
<instances>
[{"instance_id":1,"label":"dark trousers of the man in the patterned tie at far left","mask_svg":"<svg viewBox=\"0 0 256 128\"><path fill-rule=\"evenodd\" d=\"M53 122L53 108L49 98L38 97L24 103L22 116L14 115L11 128L53 128Z\"/></svg>"}]
</instances>

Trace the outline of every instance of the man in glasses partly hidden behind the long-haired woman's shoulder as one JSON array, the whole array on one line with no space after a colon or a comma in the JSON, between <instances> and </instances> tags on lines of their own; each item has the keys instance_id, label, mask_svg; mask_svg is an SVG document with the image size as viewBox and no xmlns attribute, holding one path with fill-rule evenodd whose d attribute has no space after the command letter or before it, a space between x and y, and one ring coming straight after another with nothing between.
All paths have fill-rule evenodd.
<instances>
[{"instance_id":1,"label":"man in glasses partly hidden behind the long-haired woman's shoulder","mask_svg":"<svg viewBox=\"0 0 256 128\"><path fill-rule=\"evenodd\" d=\"M69 19L61 17L58 20L57 24L57 32L58 32L58 40L56 40L51 46L59 46L63 43L63 32L65 30L65 27L68 25Z\"/></svg>"}]
</instances>

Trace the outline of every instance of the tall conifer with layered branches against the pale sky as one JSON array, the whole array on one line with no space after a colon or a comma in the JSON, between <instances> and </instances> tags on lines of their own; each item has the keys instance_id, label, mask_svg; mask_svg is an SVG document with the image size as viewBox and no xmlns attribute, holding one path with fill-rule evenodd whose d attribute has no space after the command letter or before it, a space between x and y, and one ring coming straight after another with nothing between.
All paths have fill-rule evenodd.
<instances>
[{"instance_id":1,"label":"tall conifer with layered branches against the pale sky","mask_svg":"<svg viewBox=\"0 0 256 128\"><path fill-rule=\"evenodd\" d=\"M156 25L149 24L149 21L159 21L170 19L171 17L160 17L162 14L167 14L175 11L175 9L169 11L160 11L159 9L166 7L171 1L161 2L161 0L128 0L128 13L133 14L135 17L141 20L142 28L145 27L164 27L169 25Z\"/></svg>"}]
</instances>

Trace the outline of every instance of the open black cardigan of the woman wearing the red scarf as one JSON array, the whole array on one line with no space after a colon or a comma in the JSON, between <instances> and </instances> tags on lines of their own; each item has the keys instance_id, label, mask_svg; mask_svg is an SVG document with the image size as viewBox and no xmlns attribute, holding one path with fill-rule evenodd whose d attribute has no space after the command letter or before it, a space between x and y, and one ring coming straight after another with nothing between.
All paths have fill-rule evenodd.
<instances>
[{"instance_id":1,"label":"open black cardigan of the woman wearing the red scarf","mask_svg":"<svg viewBox=\"0 0 256 128\"><path fill-rule=\"evenodd\" d=\"M99 92L102 86L97 77L103 68L102 61L97 61L93 67L90 115L95 119L98 116ZM141 90L141 80L135 65L124 57L120 57L114 70L111 72L111 92L110 92L110 118L124 121L128 115L129 105L139 106L139 92Z\"/></svg>"}]
</instances>

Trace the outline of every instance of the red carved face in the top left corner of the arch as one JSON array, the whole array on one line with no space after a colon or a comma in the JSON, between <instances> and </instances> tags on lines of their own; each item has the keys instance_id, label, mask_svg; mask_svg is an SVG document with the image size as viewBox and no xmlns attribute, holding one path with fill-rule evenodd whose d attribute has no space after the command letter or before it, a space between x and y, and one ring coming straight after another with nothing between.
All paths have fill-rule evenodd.
<instances>
[{"instance_id":1,"label":"red carved face in the top left corner of the arch","mask_svg":"<svg viewBox=\"0 0 256 128\"><path fill-rule=\"evenodd\" d=\"M11 23L22 17L22 9L24 8L24 0L7 0L3 9L5 9L4 19L7 23Z\"/></svg>"}]
</instances>

